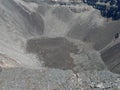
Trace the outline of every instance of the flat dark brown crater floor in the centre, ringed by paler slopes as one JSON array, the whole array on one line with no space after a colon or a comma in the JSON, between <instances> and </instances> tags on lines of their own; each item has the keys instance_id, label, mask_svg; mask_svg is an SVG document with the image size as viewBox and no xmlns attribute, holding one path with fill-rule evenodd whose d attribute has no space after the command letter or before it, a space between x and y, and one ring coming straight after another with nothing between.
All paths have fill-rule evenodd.
<instances>
[{"instance_id":1,"label":"flat dark brown crater floor in the centre, ringed by paler slopes","mask_svg":"<svg viewBox=\"0 0 120 90\"><path fill-rule=\"evenodd\" d=\"M44 65L49 68L68 70L75 65L70 53L77 53L78 49L65 38L31 39L27 42L27 51L43 57Z\"/></svg>"}]
</instances>

